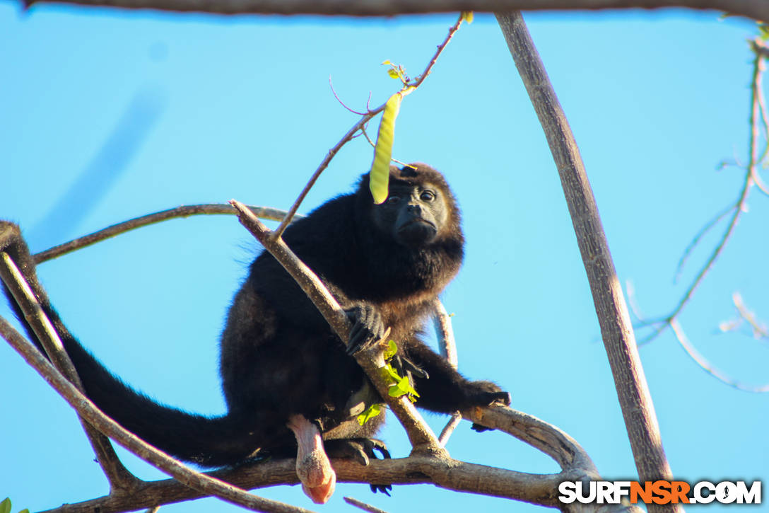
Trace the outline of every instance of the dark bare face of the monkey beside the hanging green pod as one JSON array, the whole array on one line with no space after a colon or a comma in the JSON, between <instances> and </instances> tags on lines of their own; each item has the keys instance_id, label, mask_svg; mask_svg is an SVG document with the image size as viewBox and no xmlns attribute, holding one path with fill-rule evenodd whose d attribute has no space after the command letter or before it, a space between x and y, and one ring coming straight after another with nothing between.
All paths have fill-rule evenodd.
<instances>
[{"instance_id":1,"label":"dark bare face of the monkey beside the hanging green pod","mask_svg":"<svg viewBox=\"0 0 769 513\"><path fill-rule=\"evenodd\" d=\"M423 246L438 238L448 219L446 198L431 183L391 183L384 203L374 207L374 223L405 246Z\"/></svg>"}]
</instances>

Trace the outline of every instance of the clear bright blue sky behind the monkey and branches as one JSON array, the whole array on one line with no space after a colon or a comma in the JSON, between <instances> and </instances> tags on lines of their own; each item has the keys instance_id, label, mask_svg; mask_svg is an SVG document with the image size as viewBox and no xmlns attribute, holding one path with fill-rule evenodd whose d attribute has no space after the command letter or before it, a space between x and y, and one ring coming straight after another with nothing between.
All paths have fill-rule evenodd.
<instances>
[{"instance_id":1,"label":"clear bright blue sky behind the monkey and branches","mask_svg":"<svg viewBox=\"0 0 769 513\"><path fill-rule=\"evenodd\" d=\"M21 223L32 249L43 250L183 203L236 198L287 208L355 122L329 76L352 108L363 109L369 92L379 105L398 86L380 63L417 75L454 18L223 18L52 5L25 13L3 2L0 217ZM681 254L741 188L741 169L717 168L747 159L754 25L676 10L526 18L574 129L620 280L634 284L645 314L667 314L724 226L674 283ZM441 169L463 209L467 259L443 298L455 314L461 371L497 381L514 407L567 431L605 477L632 478L558 175L493 17L464 25L424 86L404 99L394 157ZM347 192L371 158L365 140L346 146L301 212ZM717 327L736 315L734 292L769 321L767 219L767 197L754 190L681 316L697 349L748 384L769 381L767 340ZM194 217L92 246L39 273L71 329L113 371L160 401L220 414L218 334L256 251L235 217ZM677 478L769 477L769 395L716 381L670 331L642 347L641 358ZM15 510L108 491L72 410L6 344L0 405L0 498L10 496ZM429 421L440 429L444 417ZM408 454L394 421L383 438L395 456ZM467 423L448 448L476 463L558 471L521 442L476 434ZM142 478L161 477L125 460ZM392 498L340 485L323 507L298 487L259 493L319 511L351 511L343 495L388 511L535 509L427 485L396 487ZM769 498L736 508L769 511ZM209 499L161 511L233 507Z\"/></svg>"}]
</instances>

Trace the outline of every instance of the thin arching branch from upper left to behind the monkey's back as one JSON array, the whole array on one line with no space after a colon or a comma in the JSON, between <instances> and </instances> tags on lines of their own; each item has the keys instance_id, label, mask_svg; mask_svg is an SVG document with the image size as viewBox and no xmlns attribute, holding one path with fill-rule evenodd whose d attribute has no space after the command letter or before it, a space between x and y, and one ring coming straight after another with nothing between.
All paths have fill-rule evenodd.
<instances>
[{"instance_id":1,"label":"thin arching branch from upper left to behind the monkey's back","mask_svg":"<svg viewBox=\"0 0 769 513\"><path fill-rule=\"evenodd\" d=\"M262 219L269 219L274 221L280 221L285 217L285 211L278 209L271 209L264 206L249 206L251 212ZM147 226L152 223L160 223L161 221L174 219L176 217L188 217L198 214L235 214L235 210L231 205L227 203L205 203L202 205L182 205L168 210L161 210L147 214L146 216L135 217L122 223L113 224L98 232L90 233L82 237L78 237L75 240L53 246L52 248L35 253L32 258L35 259L35 263L42 263L46 260L52 260L53 258L61 257L66 253L71 253L75 250L80 250L85 246L98 243L101 240L109 239L121 233L141 228L141 226Z\"/></svg>"}]
</instances>

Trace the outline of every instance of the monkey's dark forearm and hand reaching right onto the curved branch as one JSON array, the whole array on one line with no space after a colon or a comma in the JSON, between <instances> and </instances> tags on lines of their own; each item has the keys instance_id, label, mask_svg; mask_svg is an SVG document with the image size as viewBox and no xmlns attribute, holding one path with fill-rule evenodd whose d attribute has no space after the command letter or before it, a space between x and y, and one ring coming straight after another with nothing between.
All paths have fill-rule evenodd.
<instances>
[{"instance_id":1,"label":"monkey's dark forearm and hand reaching right onto the curved branch","mask_svg":"<svg viewBox=\"0 0 769 513\"><path fill-rule=\"evenodd\" d=\"M404 347L404 353L429 376L424 378L414 375L414 384L419 394L418 407L453 413L472 406L488 406L494 402L510 404L510 394L496 384L465 379L443 357L418 340L410 340Z\"/></svg>"}]
</instances>

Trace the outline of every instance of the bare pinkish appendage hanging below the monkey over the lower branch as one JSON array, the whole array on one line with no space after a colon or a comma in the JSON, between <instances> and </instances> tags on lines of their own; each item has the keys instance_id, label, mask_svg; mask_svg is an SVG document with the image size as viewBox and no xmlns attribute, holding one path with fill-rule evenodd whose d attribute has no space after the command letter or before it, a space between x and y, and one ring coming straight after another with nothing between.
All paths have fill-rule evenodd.
<instances>
[{"instance_id":1,"label":"bare pinkish appendage hanging below the monkey over the lower branch","mask_svg":"<svg viewBox=\"0 0 769 513\"><path fill-rule=\"evenodd\" d=\"M296 474L301 489L315 504L325 504L336 488L336 474L323 448L321 432L302 415L291 415L286 426L294 432L298 445Z\"/></svg>"}]
</instances>

